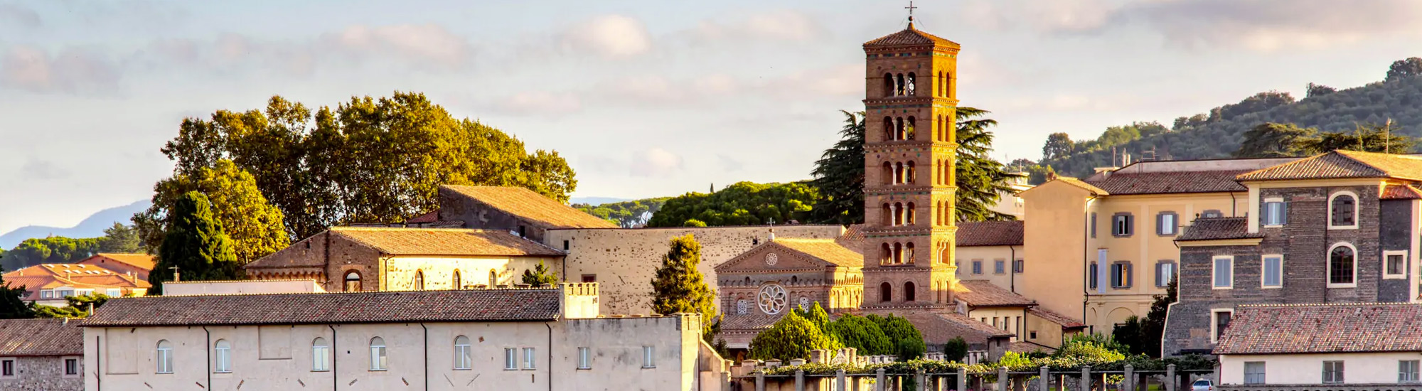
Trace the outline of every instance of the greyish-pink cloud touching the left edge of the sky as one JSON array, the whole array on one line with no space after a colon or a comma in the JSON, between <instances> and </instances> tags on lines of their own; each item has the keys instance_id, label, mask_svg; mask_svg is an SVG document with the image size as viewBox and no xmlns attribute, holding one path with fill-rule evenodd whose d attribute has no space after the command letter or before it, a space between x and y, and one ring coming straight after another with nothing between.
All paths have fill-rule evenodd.
<instances>
[{"instance_id":1,"label":"greyish-pink cloud touching the left edge of the sky","mask_svg":"<svg viewBox=\"0 0 1422 391\"><path fill-rule=\"evenodd\" d=\"M0 55L0 87L31 92L107 92L118 87L119 70L102 55L70 48L48 53L14 45Z\"/></svg>"}]
</instances>

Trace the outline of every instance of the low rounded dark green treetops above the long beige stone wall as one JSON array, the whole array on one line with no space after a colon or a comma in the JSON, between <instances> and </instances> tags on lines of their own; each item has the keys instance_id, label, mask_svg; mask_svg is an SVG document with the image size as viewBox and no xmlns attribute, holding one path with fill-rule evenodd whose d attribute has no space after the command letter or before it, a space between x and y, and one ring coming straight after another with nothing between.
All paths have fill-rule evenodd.
<instances>
[{"instance_id":1,"label":"low rounded dark green treetops above the long beige stone wall","mask_svg":"<svg viewBox=\"0 0 1422 391\"><path fill-rule=\"evenodd\" d=\"M647 226L695 226L697 222L707 226L762 225L772 219L776 223L808 222L811 205L818 198L816 189L803 182L738 182L710 195L685 193L667 199Z\"/></svg>"}]
</instances>

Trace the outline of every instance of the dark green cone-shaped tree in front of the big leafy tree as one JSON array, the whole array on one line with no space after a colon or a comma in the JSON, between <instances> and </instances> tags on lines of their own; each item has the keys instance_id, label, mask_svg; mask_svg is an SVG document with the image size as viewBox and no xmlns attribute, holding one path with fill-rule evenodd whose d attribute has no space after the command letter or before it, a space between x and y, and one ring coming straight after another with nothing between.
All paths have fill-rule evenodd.
<instances>
[{"instance_id":1,"label":"dark green cone-shaped tree in front of the big leafy tree","mask_svg":"<svg viewBox=\"0 0 1422 391\"><path fill-rule=\"evenodd\" d=\"M162 294L162 284L173 280L172 267L178 267L178 276L186 282L242 277L232 239L223 233L203 193L188 192L173 202L158 262L148 274L154 284L149 294Z\"/></svg>"}]
</instances>

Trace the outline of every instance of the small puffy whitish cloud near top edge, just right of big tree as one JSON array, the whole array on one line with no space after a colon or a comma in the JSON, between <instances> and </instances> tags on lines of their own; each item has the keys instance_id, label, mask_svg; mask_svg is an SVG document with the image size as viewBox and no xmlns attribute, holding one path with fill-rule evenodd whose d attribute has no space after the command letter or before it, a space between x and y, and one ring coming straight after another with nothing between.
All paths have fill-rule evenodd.
<instances>
[{"instance_id":1,"label":"small puffy whitish cloud near top edge, just right of big tree","mask_svg":"<svg viewBox=\"0 0 1422 391\"><path fill-rule=\"evenodd\" d=\"M599 16L577 23L559 34L565 50L606 58L631 57L651 51L647 26L629 16Z\"/></svg>"}]
</instances>

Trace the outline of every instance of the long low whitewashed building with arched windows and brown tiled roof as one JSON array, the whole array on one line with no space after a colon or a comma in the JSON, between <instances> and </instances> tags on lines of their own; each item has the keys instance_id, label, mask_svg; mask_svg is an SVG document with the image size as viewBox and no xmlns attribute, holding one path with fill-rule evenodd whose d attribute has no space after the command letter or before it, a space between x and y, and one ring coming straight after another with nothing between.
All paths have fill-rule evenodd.
<instances>
[{"instance_id":1,"label":"long low whitewashed building with arched windows and brown tiled roof","mask_svg":"<svg viewBox=\"0 0 1422 391\"><path fill-rule=\"evenodd\" d=\"M721 390L695 314L603 317L557 289L117 299L85 390Z\"/></svg>"}]
</instances>

